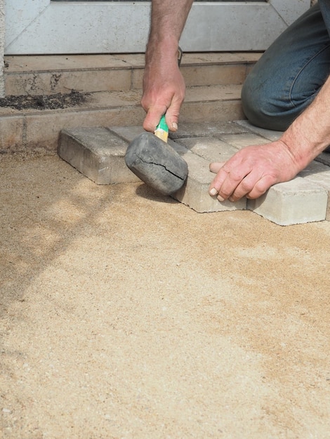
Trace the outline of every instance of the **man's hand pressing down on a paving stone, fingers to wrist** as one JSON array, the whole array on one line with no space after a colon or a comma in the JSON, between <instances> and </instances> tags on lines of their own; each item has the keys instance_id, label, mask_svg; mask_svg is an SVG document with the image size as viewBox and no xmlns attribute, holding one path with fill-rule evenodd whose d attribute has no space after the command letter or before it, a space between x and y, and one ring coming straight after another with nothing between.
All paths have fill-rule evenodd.
<instances>
[{"instance_id":1,"label":"man's hand pressing down on a paving stone, fingers to wrist","mask_svg":"<svg viewBox=\"0 0 330 439\"><path fill-rule=\"evenodd\" d=\"M210 170L217 175L209 194L219 201L237 201L243 196L258 198L272 184L291 180L301 168L286 144L278 140L241 149L225 163L211 163Z\"/></svg>"}]
</instances>

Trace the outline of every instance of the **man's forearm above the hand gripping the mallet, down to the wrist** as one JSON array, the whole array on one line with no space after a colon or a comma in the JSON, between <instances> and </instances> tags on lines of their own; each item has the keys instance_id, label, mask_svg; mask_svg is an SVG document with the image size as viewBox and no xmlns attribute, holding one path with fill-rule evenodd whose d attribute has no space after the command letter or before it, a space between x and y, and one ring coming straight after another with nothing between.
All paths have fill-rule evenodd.
<instances>
[{"instance_id":1,"label":"man's forearm above the hand gripping the mallet, down to the wrist","mask_svg":"<svg viewBox=\"0 0 330 439\"><path fill-rule=\"evenodd\" d=\"M147 51L161 46L177 50L193 0L152 0L151 27Z\"/></svg>"}]
</instances>

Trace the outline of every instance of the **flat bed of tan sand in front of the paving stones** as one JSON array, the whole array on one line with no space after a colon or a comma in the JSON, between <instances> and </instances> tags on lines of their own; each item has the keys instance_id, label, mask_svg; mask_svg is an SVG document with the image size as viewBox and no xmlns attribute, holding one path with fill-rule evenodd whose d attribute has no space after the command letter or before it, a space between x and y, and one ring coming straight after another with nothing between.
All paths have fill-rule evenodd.
<instances>
[{"instance_id":1,"label":"flat bed of tan sand in front of the paving stones","mask_svg":"<svg viewBox=\"0 0 330 439\"><path fill-rule=\"evenodd\" d=\"M1 438L329 438L329 222L0 159Z\"/></svg>"}]
</instances>

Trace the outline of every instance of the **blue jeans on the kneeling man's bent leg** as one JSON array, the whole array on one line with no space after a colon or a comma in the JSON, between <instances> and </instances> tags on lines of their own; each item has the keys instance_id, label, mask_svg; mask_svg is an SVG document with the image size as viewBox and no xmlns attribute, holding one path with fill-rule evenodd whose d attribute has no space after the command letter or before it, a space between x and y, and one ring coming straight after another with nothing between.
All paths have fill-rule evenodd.
<instances>
[{"instance_id":1,"label":"blue jeans on the kneeling man's bent leg","mask_svg":"<svg viewBox=\"0 0 330 439\"><path fill-rule=\"evenodd\" d=\"M244 114L253 125L286 130L329 74L330 0L319 0L272 43L251 70L242 89Z\"/></svg>"}]
</instances>

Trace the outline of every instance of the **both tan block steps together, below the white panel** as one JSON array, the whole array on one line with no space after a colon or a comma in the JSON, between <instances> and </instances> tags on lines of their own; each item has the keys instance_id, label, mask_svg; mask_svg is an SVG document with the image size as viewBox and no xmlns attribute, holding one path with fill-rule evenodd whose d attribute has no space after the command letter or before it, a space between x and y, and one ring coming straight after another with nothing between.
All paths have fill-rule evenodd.
<instances>
[{"instance_id":1,"label":"both tan block steps together, below the white panel","mask_svg":"<svg viewBox=\"0 0 330 439\"><path fill-rule=\"evenodd\" d=\"M187 93L180 121L244 118L240 89L259 57L260 53L184 54L180 69ZM143 54L6 56L6 97L72 90L88 97L64 109L0 107L0 151L55 151L64 128L142 125L143 69Z\"/></svg>"}]
</instances>

